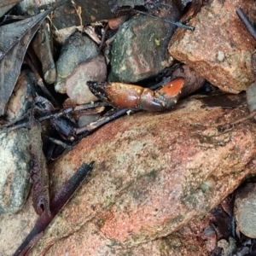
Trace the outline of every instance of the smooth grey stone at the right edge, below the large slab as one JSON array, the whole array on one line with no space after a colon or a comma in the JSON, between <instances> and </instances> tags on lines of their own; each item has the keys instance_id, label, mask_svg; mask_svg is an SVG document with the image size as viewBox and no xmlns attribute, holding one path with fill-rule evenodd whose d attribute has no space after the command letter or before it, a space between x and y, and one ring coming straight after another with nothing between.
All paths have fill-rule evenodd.
<instances>
[{"instance_id":1,"label":"smooth grey stone at the right edge, below the large slab","mask_svg":"<svg viewBox=\"0 0 256 256\"><path fill-rule=\"evenodd\" d=\"M256 238L256 184L247 183L241 188L235 200L237 230L250 238Z\"/></svg>"}]
</instances>

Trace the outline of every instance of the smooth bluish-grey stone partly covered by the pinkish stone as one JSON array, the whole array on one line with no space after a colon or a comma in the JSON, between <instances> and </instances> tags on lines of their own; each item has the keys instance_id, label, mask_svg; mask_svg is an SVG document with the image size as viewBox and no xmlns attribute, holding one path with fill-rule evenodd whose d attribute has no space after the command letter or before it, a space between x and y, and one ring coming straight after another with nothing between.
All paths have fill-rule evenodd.
<instances>
[{"instance_id":1,"label":"smooth bluish-grey stone partly covered by the pinkish stone","mask_svg":"<svg viewBox=\"0 0 256 256\"><path fill-rule=\"evenodd\" d=\"M75 67L99 55L96 44L81 32L75 32L67 39L61 48L61 55L56 63L57 80L55 90L66 93L67 76L73 73Z\"/></svg>"}]
</instances>

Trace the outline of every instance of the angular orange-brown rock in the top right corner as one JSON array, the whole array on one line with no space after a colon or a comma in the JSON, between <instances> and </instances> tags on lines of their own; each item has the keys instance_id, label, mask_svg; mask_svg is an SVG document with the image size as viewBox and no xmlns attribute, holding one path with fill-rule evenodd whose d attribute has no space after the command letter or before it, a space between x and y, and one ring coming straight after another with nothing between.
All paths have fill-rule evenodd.
<instances>
[{"instance_id":1,"label":"angular orange-brown rock in the top right corner","mask_svg":"<svg viewBox=\"0 0 256 256\"><path fill-rule=\"evenodd\" d=\"M241 7L255 22L255 1L208 2L189 21L195 31L177 28L169 52L221 90L230 93L246 90L253 83L251 54L256 42L239 20L236 9Z\"/></svg>"}]
</instances>

